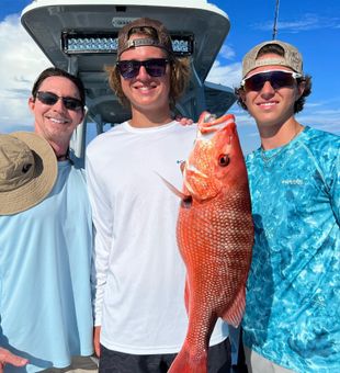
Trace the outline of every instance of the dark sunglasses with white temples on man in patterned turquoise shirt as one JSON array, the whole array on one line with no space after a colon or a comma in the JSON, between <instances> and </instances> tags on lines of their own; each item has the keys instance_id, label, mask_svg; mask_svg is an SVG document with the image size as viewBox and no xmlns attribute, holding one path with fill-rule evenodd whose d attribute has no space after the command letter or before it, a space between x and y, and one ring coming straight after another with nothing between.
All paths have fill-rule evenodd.
<instances>
[{"instance_id":1,"label":"dark sunglasses with white temples on man in patterned turquoise shirt","mask_svg":"<svg viewBox=\"0 0 340 373\"><path fill-rule=\"evenodd\" d=\"M261 71L259 74L252 75L249 78L246 78L241 82L241 87L246 91L256 91L259 92L263 88L267 81L273 87L274 90L284 87L292 87L296 79L302 78L301 74L294 71L284 71L284 70L270 70L270 71Z\"/></svg>"}]
</instances>

